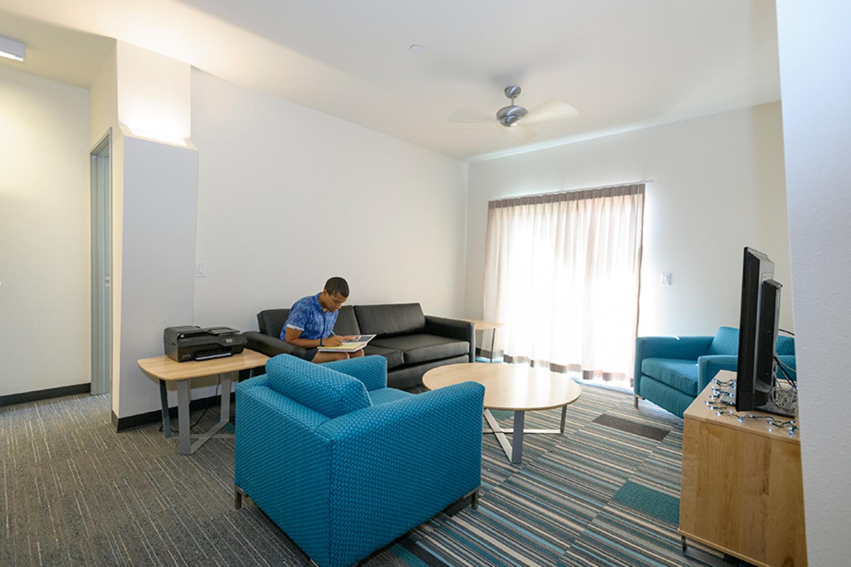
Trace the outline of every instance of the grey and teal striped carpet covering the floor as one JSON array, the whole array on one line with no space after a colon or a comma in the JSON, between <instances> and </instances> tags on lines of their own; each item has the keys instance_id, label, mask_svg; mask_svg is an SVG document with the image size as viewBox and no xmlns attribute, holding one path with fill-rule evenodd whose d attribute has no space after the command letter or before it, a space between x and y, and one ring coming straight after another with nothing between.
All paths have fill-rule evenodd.
<instances>
[{"instance_id":1,"label":"grey and teal striped carpet covering the floor","mask_svg":"<svg viewBox=\"0 0 851 567\"><path fill-rule=\"evenodd\" d=\"M232 509L231 440L180 456L157 426L115 434L109 416L104 396L0 408L0 565L311 564L253 502ZM585 387L565 434L526 437L520 467L485 436L477 512L458 502L363 565L698 565L677 536L682 423Z\"/></svg>"}]
</instances>

